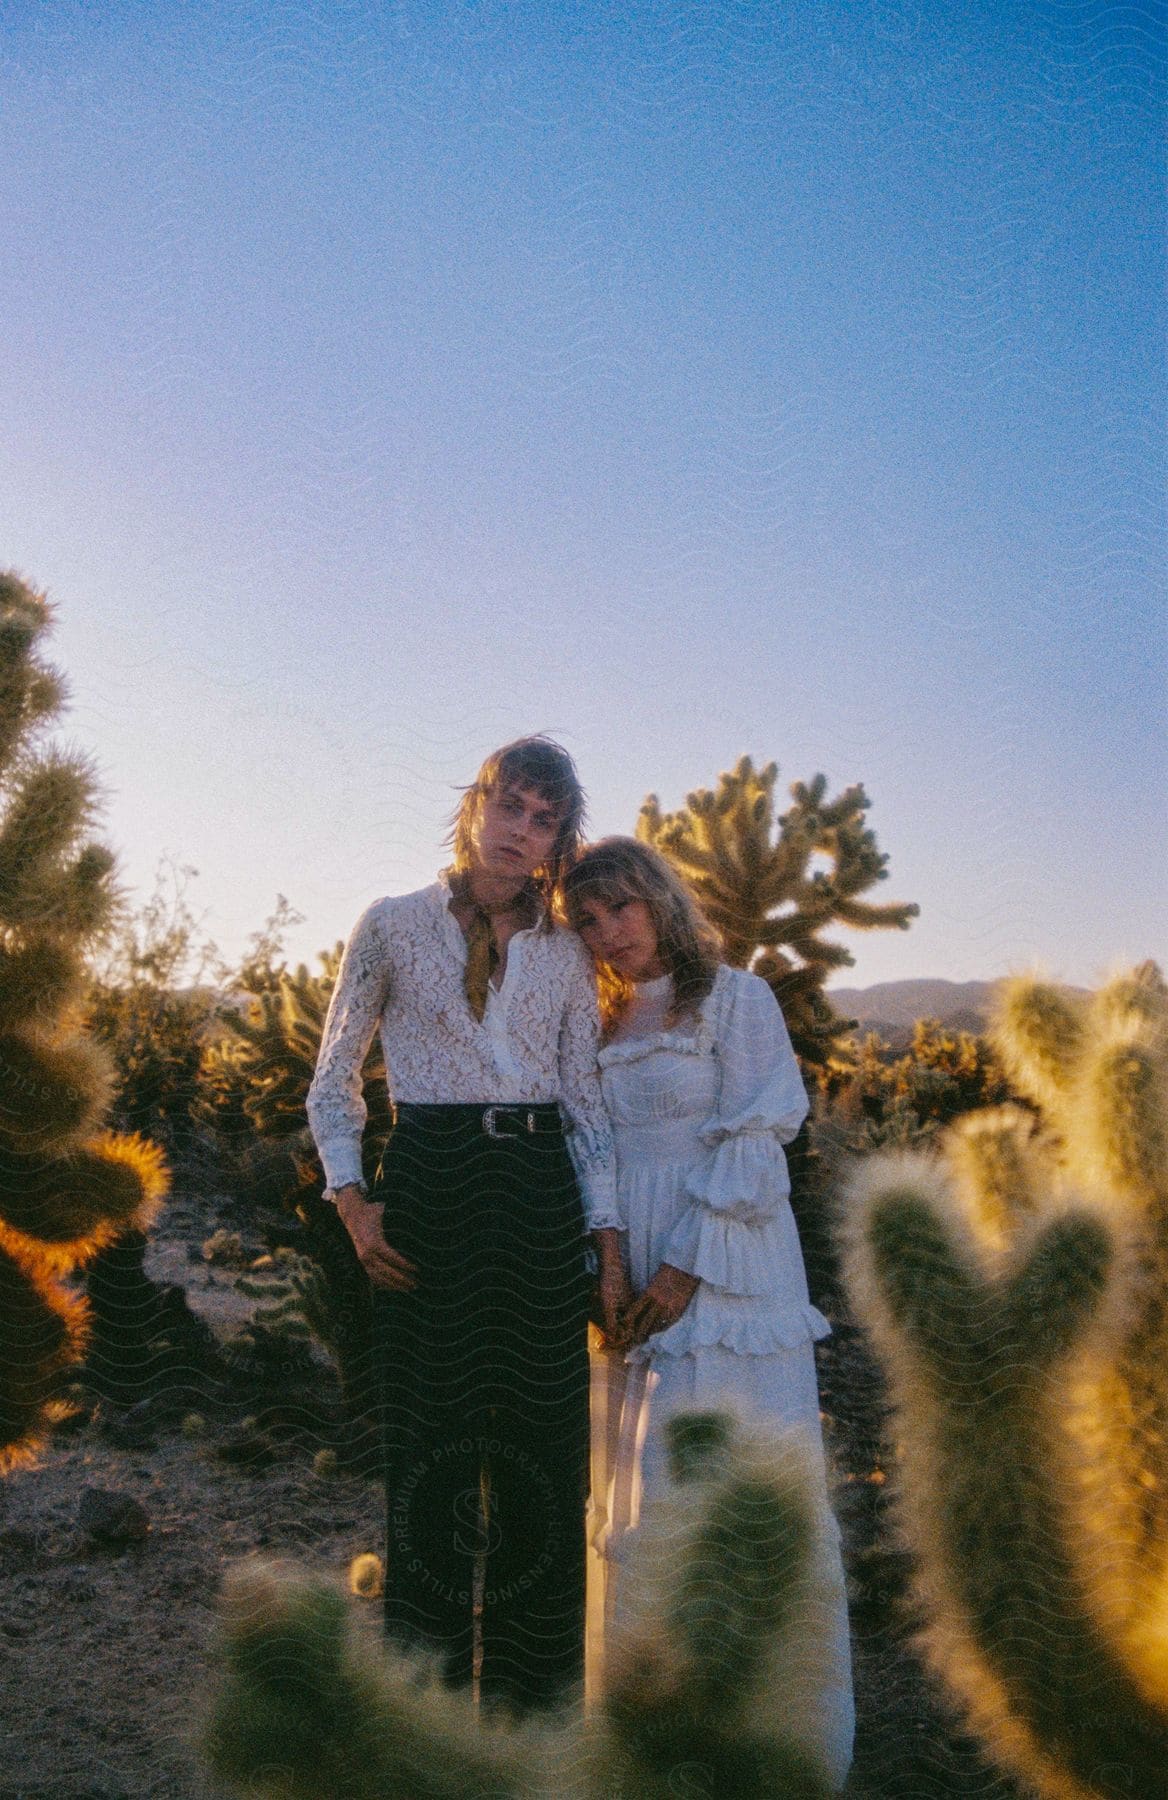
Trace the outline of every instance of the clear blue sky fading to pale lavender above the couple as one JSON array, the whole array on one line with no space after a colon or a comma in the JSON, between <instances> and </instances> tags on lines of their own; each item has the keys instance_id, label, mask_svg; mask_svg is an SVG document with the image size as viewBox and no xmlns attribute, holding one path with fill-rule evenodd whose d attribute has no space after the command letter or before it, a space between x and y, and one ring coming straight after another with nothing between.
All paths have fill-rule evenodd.
<instances>
[{"instance_id":1,"label":"clear blue sky fading to pale lavender above the couple","mask_svg":"<svg viewBox=\"0 0 1168 1800\"><path fill-rule=\"evenodd\" d=\"M864 781L848 985L1168 956L1166 9L0 13L0 565L142 895L310 958L547 729Z\"/></svg>"}]
</instances>

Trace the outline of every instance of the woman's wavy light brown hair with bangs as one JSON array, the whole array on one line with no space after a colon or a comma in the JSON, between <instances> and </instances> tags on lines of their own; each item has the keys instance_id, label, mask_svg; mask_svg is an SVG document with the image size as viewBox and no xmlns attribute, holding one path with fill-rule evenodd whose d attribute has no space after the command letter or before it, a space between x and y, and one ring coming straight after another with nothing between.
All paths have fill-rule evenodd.
<instances>
[{"instance_id":1,"label":"woman's wavy light brown hair with bangs","mask_svg":"<svg viewBox=\"0 0 1168 1800\"><path fill-rule=\"evenodd\" d=\"M572 931L580 931L588 900L644 900L657 932L657 956L673 976L673 1022L696 1012L714 985L723 961L718 932L700 911L680 875L635 837L601 837L563 877L560 905ZM612 1035L628 1006L633 985L608 963L597 961L601 1019Z\"/></svg>"}]
</instances>

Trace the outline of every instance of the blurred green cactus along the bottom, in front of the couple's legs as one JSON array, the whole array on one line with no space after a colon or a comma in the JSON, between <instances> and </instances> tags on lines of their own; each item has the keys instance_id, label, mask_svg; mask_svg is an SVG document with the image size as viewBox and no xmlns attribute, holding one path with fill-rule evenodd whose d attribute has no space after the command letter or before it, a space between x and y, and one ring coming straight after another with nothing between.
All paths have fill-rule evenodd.
<instances>
[{"instance_id":1,"label":"blurred green cactus along the bottom, in front of the couple's legs","mask_svg":"<svg viewBox=\"0 0 1168 1800\"><path fill-rule=\"evenodd\" d=\"M821 1800L804 1733L830 1656L815 1505L794 1444L677 1422L684 1480L642 1543L603 1705L479 1726L349 1624L346 1597L265 1564L227 1593L227 1674L207 1748L221 1780L279 1800Z\"/></svg>"}]
</instances>

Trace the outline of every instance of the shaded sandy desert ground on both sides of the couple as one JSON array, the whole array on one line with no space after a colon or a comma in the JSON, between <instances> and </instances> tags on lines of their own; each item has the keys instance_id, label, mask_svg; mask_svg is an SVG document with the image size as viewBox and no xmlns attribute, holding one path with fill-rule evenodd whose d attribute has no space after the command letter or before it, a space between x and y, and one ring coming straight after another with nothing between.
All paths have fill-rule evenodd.
<instances>
[{"instance_id":1,"label":"shaded sandy desert ground on both sides of the couple","mask_svg":"<svg viewBox=\"0 0 1168 1800\"><path fill-rule=\"evenodd\" d=\"M209 1267L200 1251L225 1219L238 1226L225 1197L180 1190L148 1253L151 1276L182 1283L218 1337L250 1310L234 1274ZM831 1341L821 1375L828 1413L842 1409L835 1397L855 1399L871 1382L855 1337ZM265 1552L344 1575L353 1555L382 1548L376 1485L313 1472L337 1417L328 1366L286 1386L259 1442L241 1431L256 1404L239 1381L205 1384L146 1418L90 1404L38 1467L0 1483L0 1800L227 1800L196 1748L225 1568ZM185 1435L182 1413L194 1408L205 1427ZM837 1458L855 1462L855 1433L831 1420L828 1431ZM256 1444L257 1460L223 1460L232 1445L247 1458ZM79 1523L85 1489L139 1501L146 1535L95 1543ZM1013 1789L984 1769L930 1697L893 1597L884 1606L878 1580L873 1588L869 1499L855 1483L840 1494L867 1597L855 1613L860 1735L848 1791L1008 1800ZM889 1571L894 1588L894 1561Z\"/></svg>"}]
</instances>

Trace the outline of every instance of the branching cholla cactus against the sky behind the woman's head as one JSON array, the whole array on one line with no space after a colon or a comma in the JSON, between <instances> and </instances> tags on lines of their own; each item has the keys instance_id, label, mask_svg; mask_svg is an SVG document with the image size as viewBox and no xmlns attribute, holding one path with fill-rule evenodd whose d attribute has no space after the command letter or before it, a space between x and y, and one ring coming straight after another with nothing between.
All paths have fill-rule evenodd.
<instances>
[{"instance_id":1,"label":"branching cholla cactus against the sky behind the woman's head","mask_svg":"<svg viewBox=\"0 0 1168 1800\"><path fill-rule=\"evenodd\" d=\"M860 898L887 875L887 857L864 823L869 801L862 787L828 799L824 776L795 781L772 841L777 772L777 763L756 770L743 756L718 776L714 790L687 794L680 812L662 814L650 794L637 837L689 882L722 932L727 961L770 983L803 1062L824 1064L851 1030L851 1021L831 1010L824 981L853 956L822 932L831 925L905 931L920 907ZM813 857L826 859L830 871L812 869Z\"/></svg>"}]
</instances>

